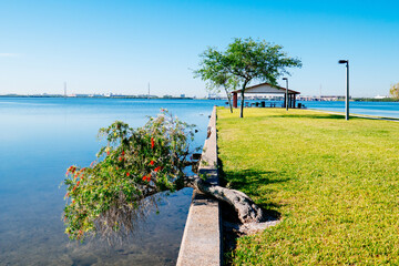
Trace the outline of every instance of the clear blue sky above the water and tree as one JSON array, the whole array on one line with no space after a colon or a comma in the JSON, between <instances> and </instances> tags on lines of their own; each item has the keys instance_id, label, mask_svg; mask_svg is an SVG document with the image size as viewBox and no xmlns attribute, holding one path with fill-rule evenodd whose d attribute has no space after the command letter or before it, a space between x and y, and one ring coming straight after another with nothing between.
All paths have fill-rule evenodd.
<instances>
[{"instance_id":1,"label":"clear blue sky above the water and tree","mask_svg":"<svg viewBox=\"0 0 399 266\"><path fill-rule=\"evenodd\" d=\"M0 94L203 96L198 54L233 38L280 44L303 61L303 95L387 95L399 82L398 1L0 1ZM280 82L284 85L283 82Z\"/></svg>"}]
</instances>

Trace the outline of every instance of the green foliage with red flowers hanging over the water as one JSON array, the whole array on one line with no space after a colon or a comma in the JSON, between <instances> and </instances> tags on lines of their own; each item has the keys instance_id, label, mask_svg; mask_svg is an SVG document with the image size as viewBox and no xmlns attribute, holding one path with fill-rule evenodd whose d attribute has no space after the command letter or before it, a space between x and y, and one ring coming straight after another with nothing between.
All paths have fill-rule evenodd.
<instances>
[{"instance_id":1,"label":"green foliage with red flowers hanging over the water","mask_svg":"<svg viewBox=\"0 0 399 266\"><path fill-rule=\"evenodd\" d=\"M108 145L98 161L66 171L64 222L70 238L132 231L152 202L146 198L181 190L193 126L163 110L143 127L116 121L101 129Z\"/></svg>"}]
</instances>

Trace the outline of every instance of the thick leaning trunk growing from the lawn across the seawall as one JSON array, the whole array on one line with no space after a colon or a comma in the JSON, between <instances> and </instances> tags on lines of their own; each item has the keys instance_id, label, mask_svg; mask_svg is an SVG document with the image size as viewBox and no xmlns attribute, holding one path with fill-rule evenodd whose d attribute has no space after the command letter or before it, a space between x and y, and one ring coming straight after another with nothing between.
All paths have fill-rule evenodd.
<instances>
[{"instance_id":1,"label":"thick leaning trunk growing from the lawn across the seawall","mask_svg":"<svg viewBox=\"0 0 399 266\"><path fill-rule=\"evenodd\" d=\"M212 185L200 177L188 177L186 180L186 186L211 195L218 201L228 203L236 209L238 218L243 224L260 223L266 219L262 208L243 192Z\"/></svg>"}]
</instances>

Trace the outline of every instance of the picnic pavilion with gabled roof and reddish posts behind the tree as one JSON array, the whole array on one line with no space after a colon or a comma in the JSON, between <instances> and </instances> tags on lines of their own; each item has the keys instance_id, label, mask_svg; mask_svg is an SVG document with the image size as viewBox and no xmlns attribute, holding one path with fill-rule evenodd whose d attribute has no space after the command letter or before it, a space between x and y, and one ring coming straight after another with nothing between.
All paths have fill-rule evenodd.
<instances>
[{"instance_id":1,"label":"picnic pavilion with gabled roof and reddish posts behind the tree","mask_svg":"<svg viewBox=\"0 0 399 266\"><path fill-rule=\"evenodd\" d=\"M242 90L233 91L233 108L237 108L238 103L238 94L242 93ZM270 83L260 83L257 85L248 86L245 89L244 94L253 93L253 94L284 94L284 104L286 104L286 89L283 86L272 85ZM300 92L293 91L288 89L288 108L294 109L296 106L296 96L299 95Z\"/></svg>"}]
</instances>

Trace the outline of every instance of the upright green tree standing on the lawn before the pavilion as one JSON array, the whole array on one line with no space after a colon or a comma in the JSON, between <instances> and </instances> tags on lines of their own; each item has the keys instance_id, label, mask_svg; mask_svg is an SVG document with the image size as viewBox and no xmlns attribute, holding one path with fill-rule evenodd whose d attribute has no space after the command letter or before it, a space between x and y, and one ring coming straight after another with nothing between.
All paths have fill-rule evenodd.
<instances>
[{"instance_id":1,"label":"upright green tree standing on the lawn before the pavilion","mask_svg":"<svg viewBox=\"0 0 399 266\"><path fill-rule=\"evenodd\" d=\"M224 52L208 48L201 58L201 69L196 73L203 80L215 83L215 76L221 74L241 86L239 117L244 116L244 93L252 81L277 85L280 75L289 74L287 68L301 66L300 60L288 57L283 47L266 41L254 41L252 38L234 39Z\"/></svg>"}]
</instances>

